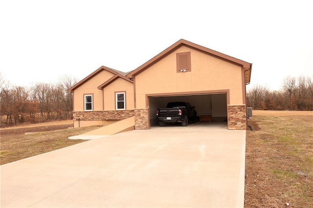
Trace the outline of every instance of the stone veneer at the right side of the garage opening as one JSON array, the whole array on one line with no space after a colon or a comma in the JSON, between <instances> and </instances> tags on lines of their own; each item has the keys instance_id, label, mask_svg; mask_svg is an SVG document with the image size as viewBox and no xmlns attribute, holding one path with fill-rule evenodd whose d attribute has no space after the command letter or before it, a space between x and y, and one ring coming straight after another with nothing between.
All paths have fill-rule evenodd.
<instances>
[{"instance_id":1,"label":"stone veneer at the right side of the garage opening","mask_svg":"<svg viewBox=\"0 0 313 208\"><path fill-rule=\"evenodd\" d=\"M228 129L246 130L246 105L227 105Z\"/></svg>"}]
</instances>

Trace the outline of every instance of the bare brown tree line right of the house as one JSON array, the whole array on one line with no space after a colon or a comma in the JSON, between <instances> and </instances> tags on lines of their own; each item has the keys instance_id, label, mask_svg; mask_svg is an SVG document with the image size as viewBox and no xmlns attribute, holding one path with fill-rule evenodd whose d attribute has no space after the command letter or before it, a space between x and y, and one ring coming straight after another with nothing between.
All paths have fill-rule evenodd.
<instances>
[{"instance_id":1,"label":"bare brown tree line right of the house","mask_svg":"<svg viewBox=\"0 0 313 208\"><path fill-rule=\"evenodd\" d=\"M246 98L255 110L313 110L313 77L286 77L277 91L256 84Z\"/></svg>"}]
</instances>

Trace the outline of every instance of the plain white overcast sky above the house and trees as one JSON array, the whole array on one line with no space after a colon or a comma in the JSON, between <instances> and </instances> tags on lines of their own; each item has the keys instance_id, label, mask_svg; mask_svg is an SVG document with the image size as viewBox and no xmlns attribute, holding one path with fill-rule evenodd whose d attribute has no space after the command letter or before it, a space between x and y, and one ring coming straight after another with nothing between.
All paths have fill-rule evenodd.
<instances>
[{"instance_id":1,"label":"plain white overcast sky above the house and trees","mask_svg":"<svg viewBox=\"0 0 313 208\"><path fill-rule=\"evenodd\" d=\"M185 39L253 64L276 90L313 76L312 0L0 0L0 72L13 85L131 71Z\"/></svg>"}]
</instances>

